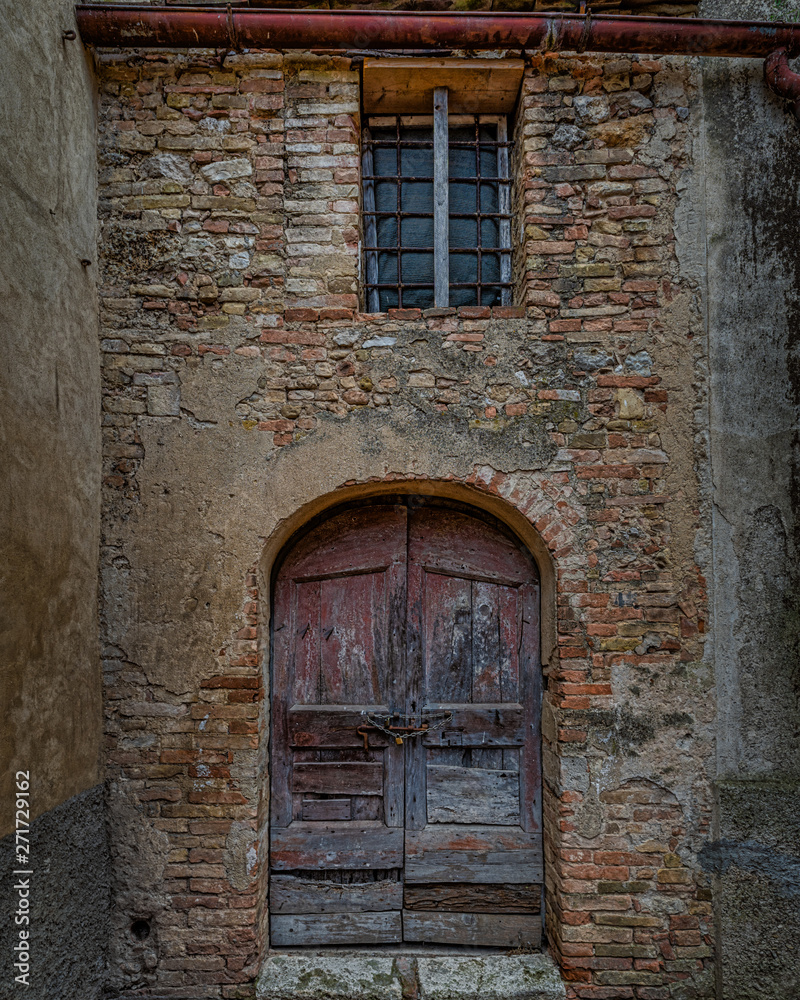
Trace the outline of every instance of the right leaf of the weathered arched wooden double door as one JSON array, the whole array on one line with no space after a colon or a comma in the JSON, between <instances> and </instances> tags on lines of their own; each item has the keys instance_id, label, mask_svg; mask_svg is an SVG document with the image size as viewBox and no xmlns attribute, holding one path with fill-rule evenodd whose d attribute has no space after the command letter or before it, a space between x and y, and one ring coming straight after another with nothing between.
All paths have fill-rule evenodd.
<instances>
[{"instance_id":1,"label":"right leaf of the weathered arched wooden double door","mask_svg":"<svg viewBox=\"0 0 800 1000\"><path fill-rule=\"evenodd\" d=\"M499 527L414 511L412 711L449 711L406 747L406 941L537 945L541 935L539 593Z\"/></svg>"}]
</instances>

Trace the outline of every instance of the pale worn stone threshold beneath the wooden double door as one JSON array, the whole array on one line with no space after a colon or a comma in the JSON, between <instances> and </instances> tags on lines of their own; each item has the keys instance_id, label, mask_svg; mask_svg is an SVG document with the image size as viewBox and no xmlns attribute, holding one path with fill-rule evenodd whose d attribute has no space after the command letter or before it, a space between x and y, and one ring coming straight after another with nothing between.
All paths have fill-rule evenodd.
<instances>
[{"instance_id":1,"label":"pale worn stone threshold beneath the wooden double door","mask_svg":"<svg viewBox=\"0 0 800 1000\"><path fill-rule=\"evenodd\" d=\"M564 1000L549 955L272 954L258 1000Z\"/></svg>"}]
</instances>

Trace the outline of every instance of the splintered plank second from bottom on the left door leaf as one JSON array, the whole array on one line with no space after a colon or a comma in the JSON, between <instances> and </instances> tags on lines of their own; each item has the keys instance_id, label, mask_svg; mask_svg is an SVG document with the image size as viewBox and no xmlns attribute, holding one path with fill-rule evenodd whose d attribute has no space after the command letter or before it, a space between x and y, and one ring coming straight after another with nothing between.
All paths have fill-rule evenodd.
<instances>
[{"instance_id":1,"label":"splintered plank second from bottom on the left door leaf","mask_svg":"<svg viewBox=\"0 0 800 1000\"><path fill-rule=\"evenodd\" d=\"M402 906L402 882L384 880L339 885L292 875L273 875L270 880L271 913L378 912L399 910Z\"/></svg>"}]
</instances>

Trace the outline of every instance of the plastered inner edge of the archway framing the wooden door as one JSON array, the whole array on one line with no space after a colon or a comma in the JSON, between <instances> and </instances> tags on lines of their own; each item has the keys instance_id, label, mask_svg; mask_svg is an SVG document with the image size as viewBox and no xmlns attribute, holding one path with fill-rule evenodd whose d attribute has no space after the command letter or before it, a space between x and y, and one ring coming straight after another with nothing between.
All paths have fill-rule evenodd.
<instances>
[{"instance_id":1,"label":"plastered inner edge of the archway framing the wooden door","mask_svg":"<svg viewBox=\"0 0 800 1000\"><path fill-rule=\"evenodd\" d=\"M540 585L540 641L541 641L541 663L542 669L547 674L548 668L553 663L557 652L556 645L556 568L551 553L535 526L531 524L527 517L518 510L508 500L488 494L475 486L463 482L452 480L435 479L396 479L381 482L367 482L353 484L336 489L323 494L297 508L289 517L282 520L273 530L272 534L266 538L262 549L261 558L258 564L259 590L264 595L261 601L261 649L262 649L262 679L264 684L264 700L262 702L263 711L260 720L260 758L262 774L262 796L259 806L258 818L258 840L259 857L264 859L264 863L259 865L259 907L261 929L261 962L265 960L269 953L269 911L268 911L268 882L269 866L266 863L269 852L269 746L270 746L270 666L271 666L271 642L270 637L270 616L272 610L272 588L275 576L280 568L285 555L300 539L314 526L334 516L339 510L346 508L350 504L359 501L369 501L381 497L391 496L421 496L425 498L440 498L450 500L466 508L472 508L477 512L483 512L497 521L501 522L509 529L517 539L528 549L533 556L536 567L539 571ZM556 787L555 775L548 772L552 768L552 761L548 762L548 755L543 755L542 759L542 795L543 814L547 816L554 808L554 803L547 802L552 796L552 789ZM545 858L550 854L547 849L548 823L543 826L543 836L545 838ZM545 877L544 885L548 879ZM545 908L552 910L549 898L550 893L545 890ZM549 923L549 918L546 921ZM544 944L544 941L543 941Z\"/></svg>"}]
</instances>

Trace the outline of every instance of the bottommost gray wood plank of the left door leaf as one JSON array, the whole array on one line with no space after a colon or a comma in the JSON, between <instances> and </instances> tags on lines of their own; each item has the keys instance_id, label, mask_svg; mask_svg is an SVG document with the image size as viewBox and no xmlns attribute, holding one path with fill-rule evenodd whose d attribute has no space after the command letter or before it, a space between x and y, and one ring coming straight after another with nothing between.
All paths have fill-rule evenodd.
<instances>
[{"instance_id":1,"label":"bottommost gray wood plank of the left door leaf","mask_svg":"<svg viewBox=\"0 0 800 1000\"><path fill-rule=\"evenodd\" d=\"M402 941L400 913L312 913L270 916L274 947L328 944L398 944Z\"/></svg>"}]
</instances>

